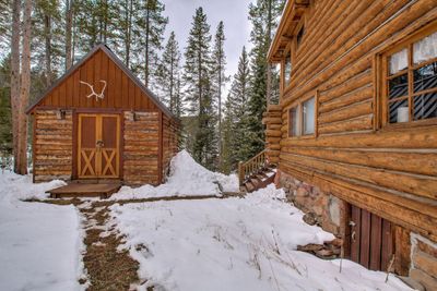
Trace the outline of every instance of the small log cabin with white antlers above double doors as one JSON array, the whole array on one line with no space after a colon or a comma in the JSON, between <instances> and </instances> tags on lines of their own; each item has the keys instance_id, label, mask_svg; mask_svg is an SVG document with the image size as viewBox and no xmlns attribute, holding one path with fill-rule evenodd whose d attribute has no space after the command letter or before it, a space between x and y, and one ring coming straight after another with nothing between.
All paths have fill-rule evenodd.
<instances>
[{"instance_id":1,"label":"small log cabin with white antlers above double doors","mask_svg":"<svg viewBox=\"0 0 437 291\"><path fill-rule=\"evenodd\" d=\"M27 109L33 178L163 182L179 121L107 48L96 46Z\"/></svg>"}]
</instances>

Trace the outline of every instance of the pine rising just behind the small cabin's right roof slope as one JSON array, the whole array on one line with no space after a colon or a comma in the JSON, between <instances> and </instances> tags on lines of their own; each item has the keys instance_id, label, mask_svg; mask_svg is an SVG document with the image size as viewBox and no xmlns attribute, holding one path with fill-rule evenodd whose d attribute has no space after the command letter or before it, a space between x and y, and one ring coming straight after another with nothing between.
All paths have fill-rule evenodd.
<instances>
[{"instance_id":1,"label":"pine rising just behind the small cabin's right roof slope","mask_svg":"<svg viewBox=\"0 0 437 291\"><path fill-rule=\"evenodd\" d=\"M180 99L180 52L179 45L176 40L174 32L170 33L167 45L158 66L157 80L160 83L160 92L163 101L168 106L170 111L180 117L181 99Z\"/></svg>"}]
</instances>

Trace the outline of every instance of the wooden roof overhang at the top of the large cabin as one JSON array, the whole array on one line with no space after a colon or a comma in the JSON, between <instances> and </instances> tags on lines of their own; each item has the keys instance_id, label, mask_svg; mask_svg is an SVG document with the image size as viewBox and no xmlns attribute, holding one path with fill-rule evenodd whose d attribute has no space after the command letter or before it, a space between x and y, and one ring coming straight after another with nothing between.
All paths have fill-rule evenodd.
<instances>
[{"instance_id":1,"label":"wooden roof overhang at the top of the large cabin","mask_svg":"<svg viewBox=\"0 0 437 291\"><path fill-rule=\"evenodd\" d=\"M281 62L284 57L285 49L293 37L297 34L296 26L309 5L309 0L287 0L284 11L282 12L281 22L277 26L276 34L270 45L268 60L271 63Z\"/></svg>"}]
</instances>

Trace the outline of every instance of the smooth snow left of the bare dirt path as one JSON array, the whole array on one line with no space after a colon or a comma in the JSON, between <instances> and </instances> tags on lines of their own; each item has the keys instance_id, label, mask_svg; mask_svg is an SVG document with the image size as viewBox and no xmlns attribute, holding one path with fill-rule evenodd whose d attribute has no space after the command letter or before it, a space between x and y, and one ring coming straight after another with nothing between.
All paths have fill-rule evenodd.
<instances>
[{"instance_id":1,"label":"smooth snow left of the bare dirt path","mask_svg":"<svg viewBox=\"0 0 437 291\"><path fill-rule=\"evenodd\" d=\"M25 203L61 181L0 173L0 290L82 290L82 230L73 206Z\"/></svg>"}]
</instances>

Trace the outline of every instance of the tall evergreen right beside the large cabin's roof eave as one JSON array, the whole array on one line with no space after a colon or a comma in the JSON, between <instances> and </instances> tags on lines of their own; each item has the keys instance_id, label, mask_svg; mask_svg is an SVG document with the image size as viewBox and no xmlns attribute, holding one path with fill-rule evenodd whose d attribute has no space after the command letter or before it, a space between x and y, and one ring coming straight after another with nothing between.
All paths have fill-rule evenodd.
<instances>
[{"instance_id":1,"label":"tall evergreen right beside the large cabin's roof eave","mask_svg":"<svg viewBox=\"0 0 437 291\"><path fill-rule=\"evenodd\" d=\"M277 26L279 16L284 8L284 0L257 0L249 5L249 20L252 23L250 40L253 44L251 50L251 94L249 98L248 142L250 156L264 148L264 129L261 123L262 112L265 111L268 93L277 92L272 85L272 74L268 64L267 54L270 48L272 32ZM273 77L274 80L274 77ZM270 84L268 84L268 81ZM275 83L277 85L277 83ZM270 96L269 96L270 98Z\"/></svg>"}]
</instances>

